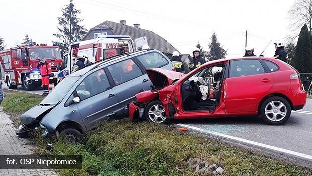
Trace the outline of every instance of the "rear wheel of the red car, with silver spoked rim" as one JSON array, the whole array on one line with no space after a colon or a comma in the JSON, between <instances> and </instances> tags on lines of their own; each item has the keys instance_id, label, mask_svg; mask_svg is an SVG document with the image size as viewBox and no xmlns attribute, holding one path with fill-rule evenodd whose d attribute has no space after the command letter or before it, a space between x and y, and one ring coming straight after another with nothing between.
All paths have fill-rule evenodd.
<instances>
[{"instance_id":1,"label":"rear wheel of the red car, with silver spoked rim","mask_svg":"<svg viewBox=\"0 0 312 176\"><path fill-rule=\"evenodd\" d=\"M282 125L290 117L291 106L289 102L278 96L269 97L261 104L262 119L269 125Z\"/></svg>"}]
</instances>

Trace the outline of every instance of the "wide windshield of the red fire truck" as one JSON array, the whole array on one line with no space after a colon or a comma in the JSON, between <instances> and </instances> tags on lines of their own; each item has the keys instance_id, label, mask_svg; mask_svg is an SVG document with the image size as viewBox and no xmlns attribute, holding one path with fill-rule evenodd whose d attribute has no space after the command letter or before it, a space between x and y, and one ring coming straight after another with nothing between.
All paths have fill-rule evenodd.
<instances>
[{"instance_id":1,"label":"wide windshield of the red fire truck","mask_svg":"<svg viewBox=\"0 0 312 176\"><path fill-rule=\"evenodd\" d=\"M29 48L30 60L61 58L59 48Z\"/></svg>"}]
</instances>

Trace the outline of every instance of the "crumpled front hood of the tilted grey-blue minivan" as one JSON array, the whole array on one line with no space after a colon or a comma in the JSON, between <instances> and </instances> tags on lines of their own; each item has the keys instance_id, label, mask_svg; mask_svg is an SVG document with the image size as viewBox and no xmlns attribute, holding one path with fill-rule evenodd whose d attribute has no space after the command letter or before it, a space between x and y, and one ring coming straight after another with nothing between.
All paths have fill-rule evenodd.
<instances>
[{"instance_id":1,"label":"crumpled front hood of the tilted grey-blue minivan","mask_svg":"<svg viewBox=\"0 0 312 176\"><path fill-rule=\"evenodd\" d=\"M21 115L20 119L24 125L39 125L40 120L51 110L55 105L36 105Z\"/></svg>"}]
</instances>

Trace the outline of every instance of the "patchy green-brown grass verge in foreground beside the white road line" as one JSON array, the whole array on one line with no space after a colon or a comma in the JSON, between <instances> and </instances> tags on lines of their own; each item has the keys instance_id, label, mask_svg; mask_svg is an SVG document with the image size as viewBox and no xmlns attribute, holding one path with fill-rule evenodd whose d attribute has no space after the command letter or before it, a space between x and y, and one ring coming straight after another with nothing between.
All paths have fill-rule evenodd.
<instances>
[{"instance_id":1,"label":"patchy green-brown grass verge in foreground beside the white road line","mask_svg":"<svg viewBox=\"0 0 312 176\"><path fill-rule=\"evenodd\" d=\"M180 132L173 126L129 119L106 122L77 143L36 136L41 154L83 156L83 169L61 169L60 175L195 175L187 165L191 157L222 166L223 175L311 175L311 170ZM45 149L48 142L53 144L52 151Z\"/></svg>"}]
</instances>

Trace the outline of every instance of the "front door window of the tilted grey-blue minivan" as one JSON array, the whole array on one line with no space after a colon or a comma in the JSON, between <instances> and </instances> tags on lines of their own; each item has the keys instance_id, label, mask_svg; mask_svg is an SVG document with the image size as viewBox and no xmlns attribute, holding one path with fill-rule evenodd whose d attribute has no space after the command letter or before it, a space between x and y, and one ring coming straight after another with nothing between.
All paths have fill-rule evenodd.
<instances>
[{"instance_id":1,"label":"front door window of the tilted grey-blue minivan","mask_svg":"<svg viewBox=\"0 0 312 176\"><path fill-rule=\"evenodd\" d=\"M104 69L100 69L88 75L76 88L76 92L80 100L85 100L106 91L110 87Z\"/></svg>"}]
</instances>

